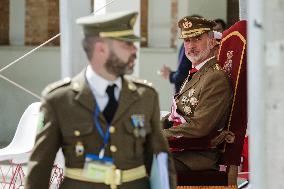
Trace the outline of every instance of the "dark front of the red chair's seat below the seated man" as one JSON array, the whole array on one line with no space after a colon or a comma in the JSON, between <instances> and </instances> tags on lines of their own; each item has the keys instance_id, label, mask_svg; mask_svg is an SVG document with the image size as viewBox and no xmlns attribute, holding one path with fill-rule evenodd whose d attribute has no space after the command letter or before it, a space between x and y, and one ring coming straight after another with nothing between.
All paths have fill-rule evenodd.
<instances>
[{"instance_id":1,"label":"dark front of the red chair's seat below the seated man","mask_svg":"<svg viewBox=\"0 0 284 189\"><path fill-rule=\"evenodd\" d=\"M225 171L178 171L178 186L228 186Z\"/></svg>"}]
</instances>

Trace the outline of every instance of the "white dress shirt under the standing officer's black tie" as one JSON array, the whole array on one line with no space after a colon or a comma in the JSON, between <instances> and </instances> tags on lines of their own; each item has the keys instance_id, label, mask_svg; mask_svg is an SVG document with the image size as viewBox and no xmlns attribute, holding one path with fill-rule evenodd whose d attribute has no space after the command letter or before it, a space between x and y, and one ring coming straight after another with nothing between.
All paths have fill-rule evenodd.
<instances>
[{"instance_id":1,"label":"white dress shirt under the standing officer's black tie","mask_svg":"<svg viewBox=\"0 0 284 189\"><path fill-rule=\"evenodd\" d=\"M91 88L91 91L96 99L96 102L100 108L100 111L103 111L108 103L108 95L106 89L109 85L115 84L114 89L115 99L119 99L120 91L122 88L121 77L117 78L114 81L108 81L105 78L98 75L90 65L88 65L86 70L86 79Z\"/></svg>"}]
</instances>

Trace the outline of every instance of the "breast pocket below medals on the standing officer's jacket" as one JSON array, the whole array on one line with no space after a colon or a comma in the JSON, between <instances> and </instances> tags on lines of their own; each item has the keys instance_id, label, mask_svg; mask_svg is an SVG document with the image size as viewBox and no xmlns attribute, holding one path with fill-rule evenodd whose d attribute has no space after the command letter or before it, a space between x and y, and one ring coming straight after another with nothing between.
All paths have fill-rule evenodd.
<instances>
[{"instance_id":1,"label":"breast pocket below medals on the standing officer's jacket","mask_svg":"<svg viewBox=\"0 0 284 189\"><path fill-rule=\"evenodd\" d=\"M145 122L144 127L136 128L132 123L125 124L125 144L129 149L129 154L133 158L141 157L144 152L145 143L148 139L148 134L151 132L149 122Z\"/></svg>"}]
</instances>

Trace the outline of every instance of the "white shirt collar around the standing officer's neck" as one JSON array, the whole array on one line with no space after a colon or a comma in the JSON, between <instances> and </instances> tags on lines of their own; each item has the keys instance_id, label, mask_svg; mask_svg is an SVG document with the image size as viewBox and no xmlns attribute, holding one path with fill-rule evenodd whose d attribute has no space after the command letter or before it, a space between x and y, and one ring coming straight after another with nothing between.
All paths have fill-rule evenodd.
<instances>
[{"instance_id":1,"label":"white shirt collar around the standing officer's neck","mask_svg":"<svg viewBox=\"0 0 284 189\"><path fill-rule=\"evenodd\" d=\"M105 78L97 74L90 65L87 66L86 79L90 85L91 90L96 91L96 94L100 96L105 95L108 85L116 84L119 91L121 91L122 88L121 77L118 77L114 81L106 80Z\"/></svg>"}]
</instances>

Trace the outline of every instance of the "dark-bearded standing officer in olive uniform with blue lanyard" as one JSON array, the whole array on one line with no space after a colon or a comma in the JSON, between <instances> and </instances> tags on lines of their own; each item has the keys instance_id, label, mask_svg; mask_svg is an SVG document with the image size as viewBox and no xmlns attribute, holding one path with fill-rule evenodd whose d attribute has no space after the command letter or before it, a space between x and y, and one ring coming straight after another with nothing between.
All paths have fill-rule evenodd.
<instances>
[{"instance_id":1,"label":"dark-bearded standing officer in olive uniform with blue lanyard","mask_svg":"<svg viewBox=\"0 0 284 189\"><path fill-rule=\"evenodd\" d=\"M60 189L148 189L153 154L168 154L161 132L157 92L130 80L139 41L136 12L79 18L89 65L72 79L43 91L42 128L36 138L26 189L47 189L62 148L65 178ZM169 156L170 157L170 156ZM166 161L175 188L174 164Z\"/></svg>"}]
</instances>

